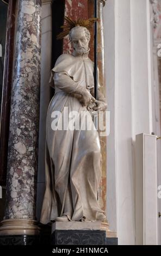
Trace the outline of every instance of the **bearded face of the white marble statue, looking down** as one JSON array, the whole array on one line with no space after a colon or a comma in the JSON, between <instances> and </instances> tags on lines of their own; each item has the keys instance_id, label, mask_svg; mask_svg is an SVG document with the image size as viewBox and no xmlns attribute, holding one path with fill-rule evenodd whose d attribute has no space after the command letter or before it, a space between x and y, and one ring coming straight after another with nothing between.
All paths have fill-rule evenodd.
<instances>
[{"instance_id":1,"label":"bearded face of the white marble statue, looking down","mask_svg":"<svg viewBox=\"0 0 161 256\"><path fill-rule=\"evenodd\" d=\"M89 49L89 39L85 35L85 31L82 28L76 28L71 33L72 44L75 51L78 54L83 54L88 52Z\"/></svg>"}]
</instances>

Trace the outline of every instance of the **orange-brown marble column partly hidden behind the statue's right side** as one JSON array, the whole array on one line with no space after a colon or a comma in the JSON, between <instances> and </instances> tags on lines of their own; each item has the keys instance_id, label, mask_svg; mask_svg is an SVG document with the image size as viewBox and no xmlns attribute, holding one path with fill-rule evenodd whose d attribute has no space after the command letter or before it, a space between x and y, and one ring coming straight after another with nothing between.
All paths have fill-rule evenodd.
<instances>
[{"instance_id":1,"label":"orange-brown marble column partly hidden behind the statue's right side","mask_svg":"<svg viewBox=\"0 0 161 256\"><path fill-rule=\"evenodd\" d=\"M92 0L90 0L91 2ZM98 69L99 69L99 82L100 82L100 91L106 97L106 73L105 73L105 54L104 54L104 15L103 15L103 9L104 6L108 3L106 0L97 0L97 17L100 19L98 22L98 46L97 46L97 59L98 59ZM92 8L91 8L92 9ZM108 103L108 102L107 102ZM101 120L99 120L101 121ZM103 125L107 126L107 120L104 113L104 120ZM107 179L108 179L108 167L107 167L107 136L101 136L101 131L99 131L100 134L100 143L101 143L101 154L102 154L102 179L100 184L100 189L98 193L98 200L100 202L100 205L102 206L102 209L106 211L107 219L104 220L104 222L101 223L101 229L106 230L107 235L107 241L108 243L114 242L114 244L117 244L117 234L111 230L109 230L109 223L108 223L108 208L107 208Z\"/></svg>"}]
</instances>

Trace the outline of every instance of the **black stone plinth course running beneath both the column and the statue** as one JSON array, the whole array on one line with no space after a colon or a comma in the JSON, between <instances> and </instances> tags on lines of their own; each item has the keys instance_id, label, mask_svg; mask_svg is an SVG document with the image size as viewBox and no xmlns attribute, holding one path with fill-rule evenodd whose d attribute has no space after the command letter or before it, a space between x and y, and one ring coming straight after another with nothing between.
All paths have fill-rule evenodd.
<instances>
[{"instance_id":1,"label":"black stone plinth course running beneath both the column and the statue","mask_svg":"<svg viewBox=\"0 0 161 256\"><path fill-rule=\"evenodd\" d=\"M101 230L55 230L51 235L3 235L2 245L118 245L116 237L106 237Z\"/></svg>"}]
</instances>

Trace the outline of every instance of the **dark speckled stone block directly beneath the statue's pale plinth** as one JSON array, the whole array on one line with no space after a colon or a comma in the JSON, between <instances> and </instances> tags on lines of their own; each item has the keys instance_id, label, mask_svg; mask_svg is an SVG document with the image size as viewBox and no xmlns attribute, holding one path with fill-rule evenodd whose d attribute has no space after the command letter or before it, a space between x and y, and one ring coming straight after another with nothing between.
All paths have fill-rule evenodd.
<instances>
[{"instance_id":1,"label":"dark speckled stone block directly beneath the statue's pale plinth","mask_svg":"<svg viewBox=\"0 0 161 256\"><path fill-rule=\"evenodd\" d=\"M52 245L106 245L106 231L55 230Z\"/></svg>"}]
</instances>

